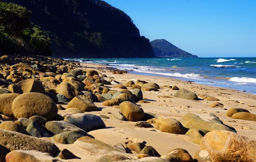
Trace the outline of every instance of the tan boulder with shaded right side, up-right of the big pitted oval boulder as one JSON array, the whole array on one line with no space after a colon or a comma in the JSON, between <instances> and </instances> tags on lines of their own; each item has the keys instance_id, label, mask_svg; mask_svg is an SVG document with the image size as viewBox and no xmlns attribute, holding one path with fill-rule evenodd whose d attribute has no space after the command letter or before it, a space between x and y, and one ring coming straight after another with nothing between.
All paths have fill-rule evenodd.
<instances>
[{"instance_id":1,"label":"tan boulder with shaded right side, up-right of the big pitted oval boulder","mask_svg":"<svg viewBox=\"0 0 256 162\"><path fill-rule=\"evenodd\" d=\"M76 88L68 82L61 82L61 84L56 88L56 91L58 94L63 94L70 100L79 94L79 91L77 91Z\"/></svg>"}]
</instances>

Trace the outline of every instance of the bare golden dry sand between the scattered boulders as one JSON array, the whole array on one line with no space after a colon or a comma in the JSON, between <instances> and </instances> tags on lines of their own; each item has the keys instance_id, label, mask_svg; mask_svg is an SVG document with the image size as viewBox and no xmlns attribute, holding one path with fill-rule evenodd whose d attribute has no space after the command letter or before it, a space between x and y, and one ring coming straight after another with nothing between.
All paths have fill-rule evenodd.
<instances>
[{"instance_id":1,"label":"bare golden dry sand between the scattered boulders","mask_svg":"<svg viewBox=\"0 0 256 162\"><path fill-rule=\"evenodd\" d=\"M104 65L82 63L81 68L94 69L108 77L117 78L119 82L124 83L125 80L144 80L146 82L155 82L160 86L163 85L176 85L178 88L186 88L196 94L210 95L220 99L223 108L212 108L209 105L214 101L205 101L199 99L198 102L173 97L176 91L170 88L161 88L159 92L156 91L143 91L143 97L151 103L138 103L145 112L153 113L156 116L165 115L177 120L186 113L207 114L213 113L219 117L224 124L230 125L237 130L237 133L246 136L250 139L256 140L256 122L232 119L226 116L226 112L230 108L244 108L251 113L256 114L256 95L247 94L241 91L212 87L208 85L199 85L193 82L185 82L182 80L172 79L171 77L154 77L136 74L112 74L111 70L106 69ZM113 85L108 85L111 88ZM131 90L131 88L128 88ZM118 90L118 89L116 89ZM200 97L199 97L200 98ZM235 100L240 103L234 102ZM88 134L95 137L102 142L111 146L117 142L127 144L129 142L144 142L146 145L151 145L160 154L165 154L173 148L184 148L192 157L195 152L200 150L200 146L192 142L192 138L186 135L169 134L157 131L151 131L154 128L138 128L134 126L135 122L120 121L113 117L113 114L118 111L116 108L102 106L102 103L95 103L101 111L86 112L88 114L106 115L110 119L103 119L106 129L99 129L90 131ZM65 108L66 105L63 105ZM50 138L44 138L52 141ZM53 142L53 141L52 141ZM100 155L90 155L81 148L75 145L62 145L53 142L60 149L67 148L81 159L62 160L64 162L95 162L99 159ZM137 153L127 154L131 157L136 157Z\"/></svg>"}]
</instances>

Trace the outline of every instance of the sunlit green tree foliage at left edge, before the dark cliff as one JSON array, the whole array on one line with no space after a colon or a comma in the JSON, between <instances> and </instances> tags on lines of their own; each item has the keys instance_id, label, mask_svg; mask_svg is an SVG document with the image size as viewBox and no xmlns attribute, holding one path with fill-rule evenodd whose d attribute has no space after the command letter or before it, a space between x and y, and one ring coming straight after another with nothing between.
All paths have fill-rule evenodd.
<instances>
[{"instance_id":1,"label":"sunlit green tree foliage at left edge, before the dark cliff","mask_svg":"<svg viewBox=\"0 0 256 162\"><path fill-rule=\"evenodd\" d=\"M0 2L0 53L33 52L51 55L51 41L29 21L31 11L15 3Z\"/></svg>"}]
</instances>

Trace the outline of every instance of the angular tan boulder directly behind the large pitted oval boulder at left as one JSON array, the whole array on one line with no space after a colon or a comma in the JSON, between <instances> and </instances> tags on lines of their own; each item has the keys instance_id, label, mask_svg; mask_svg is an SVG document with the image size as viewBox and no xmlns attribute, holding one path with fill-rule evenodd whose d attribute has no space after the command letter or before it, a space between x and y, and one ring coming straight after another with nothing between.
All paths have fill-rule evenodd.
<instances>
[{"instance_id":1,"label":"angular tan boulder directly behind the large pitted oval boulder at left","mask_svg":"<svg viewBox=\"0 0 256 162\"><path fill-rule=\"evenodd\" d=\"M22 80L16 84L22 90L22 93L38 92L44 94L44 85L37 79Z\"/></svg>"}]
</instances>

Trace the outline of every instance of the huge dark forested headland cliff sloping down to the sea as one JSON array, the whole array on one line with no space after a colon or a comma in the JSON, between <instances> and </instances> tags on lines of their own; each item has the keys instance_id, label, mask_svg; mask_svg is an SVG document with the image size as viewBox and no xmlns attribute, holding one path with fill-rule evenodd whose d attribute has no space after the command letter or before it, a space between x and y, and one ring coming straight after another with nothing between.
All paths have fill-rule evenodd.
<instances>
[{"instance_id":1,"label":"huge dark forested headland cliff sloping down to the sea","mask_svg":"<svg viewBox=\"0 0 256 162\"><path fill-rule=\"evenodd\" d=\"M155 57L123 11L102 0L4 0L31 10L51 38L54 57Z\"/></svg>"}]
</instances>

